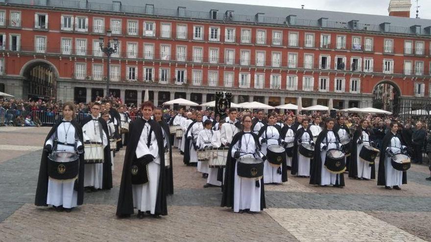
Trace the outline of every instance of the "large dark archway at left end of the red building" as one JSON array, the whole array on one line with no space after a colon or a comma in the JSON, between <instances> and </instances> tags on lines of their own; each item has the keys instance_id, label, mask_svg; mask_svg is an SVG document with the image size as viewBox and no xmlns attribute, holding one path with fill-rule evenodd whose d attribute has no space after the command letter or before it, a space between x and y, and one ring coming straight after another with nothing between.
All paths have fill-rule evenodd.
<instances>
[{"instance_id":1,"label":"large dark archway at left end of the red building","mask_svg":"<svg viewBox=\"0 0 431 242\"><path fill-rule=\"evenodd\" d=\"M55 99L56 72L53 66L35 61L24 67L23 97L32 99Z\"/></svg>"}]
</instances>

